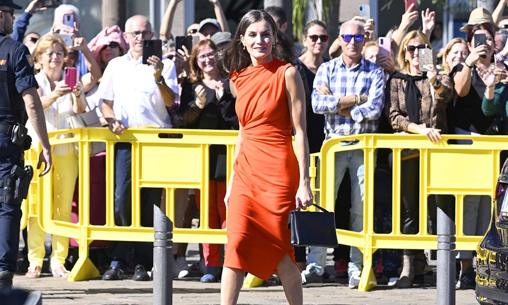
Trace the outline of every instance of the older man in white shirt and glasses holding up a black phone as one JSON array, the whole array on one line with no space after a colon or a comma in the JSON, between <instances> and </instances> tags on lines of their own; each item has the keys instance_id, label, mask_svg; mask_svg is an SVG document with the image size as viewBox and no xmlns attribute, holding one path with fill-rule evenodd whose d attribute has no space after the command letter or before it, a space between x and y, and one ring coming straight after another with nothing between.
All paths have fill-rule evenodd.
<instances>
[{"instance_id":1,"label":"older man in white shirt and glasses holding up a black phone","mask_svg":"<svg viewBox=\"0 0 508 305\"><path fill-rule=\"evenodd\" d=\"M125 41L130 50L114 58L104 71L97 94L103 99L101 111L109 130L117 135L124 128L171 128L166 107L173 105L178 93L177 77L171 60L157 56L142 64L143 40L153 38L150 22L137 15L125 22ZM131 225L131 144L115 145L115 223ZM153 226L153 204L161 203L161 189L141 190L141 225ZM153 264L153 245L134 242L134 280L149 280L146 270ZM118 242L112 253L113 260L103 280L122 280L129 243Z\"/></svg>"}]
</instances>

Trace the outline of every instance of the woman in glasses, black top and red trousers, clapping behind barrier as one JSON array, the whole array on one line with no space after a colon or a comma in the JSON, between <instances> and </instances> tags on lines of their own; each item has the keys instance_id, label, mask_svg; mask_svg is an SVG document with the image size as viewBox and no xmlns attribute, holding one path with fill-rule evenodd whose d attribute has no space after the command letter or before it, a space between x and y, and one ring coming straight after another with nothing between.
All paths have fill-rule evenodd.
<instances>
[{"instance_id":1,"label":"woman in glasses, black top and red trousers, clapping behind barrier","mask_svg":"<svg viewBox=\"0 0 508 305\"><path fill-rule=\"evenodd\" d=\"M201 40L190 53L190 74L182 83L178 114L186 128L237 130L235 98L228 79L215 64L217 47L208 39ZM226 227L226 146L210 146L209 226ZM199 207L200 193L196 190ZM201 282L218 282L220 245L203 243L206 271Z\"/></svg>"}]
</instances>

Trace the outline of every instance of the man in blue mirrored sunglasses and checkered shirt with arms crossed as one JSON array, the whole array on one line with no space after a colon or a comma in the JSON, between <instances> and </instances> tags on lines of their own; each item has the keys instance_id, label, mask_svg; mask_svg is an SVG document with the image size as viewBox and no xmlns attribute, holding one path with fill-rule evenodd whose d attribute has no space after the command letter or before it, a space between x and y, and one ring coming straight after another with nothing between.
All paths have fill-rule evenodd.
<instances>
[{"instance_id":1,"label":"man in blue mirrored sunglasses and checkered shirt with arms crossed","mask_svg":"<svg viewBox=\"0 0 508 305\"><path fill-rule=\"evenodd\" d=\"M365 44L364 24L347 21L340 27L342 55L322 64L317 70L312 89L312 109L325 115L326 139L347 135L374 133L384 106L383 70L362 56ZM357 141L342 141L354 145ZM351 224L353 231L363 229L364 163L363 151L347 150L335 155L335 194L346 169L351 176ZM326 248L314 255L324 266ZM363 256L351 247L347 274L349 287L360 283ZM370 266L369 266L370 268Z\"/></svg>"}]
</instances>

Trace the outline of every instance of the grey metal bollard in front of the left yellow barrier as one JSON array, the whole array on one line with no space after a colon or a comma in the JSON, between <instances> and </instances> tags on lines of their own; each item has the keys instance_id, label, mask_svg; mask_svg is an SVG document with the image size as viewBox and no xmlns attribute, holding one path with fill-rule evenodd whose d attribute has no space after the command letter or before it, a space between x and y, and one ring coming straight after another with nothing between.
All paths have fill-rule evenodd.
<instances>
[{"instance_id":1,"label":"grey metal bollard in front of the left yellow barrier","mask_svg":"<svg viewBox=\"0 0 508 305\"><path fill-rule=\"evenodd\" d=\"M173 222L153 205L153 305L173 304Z\"/></svg>"}]
</instances>

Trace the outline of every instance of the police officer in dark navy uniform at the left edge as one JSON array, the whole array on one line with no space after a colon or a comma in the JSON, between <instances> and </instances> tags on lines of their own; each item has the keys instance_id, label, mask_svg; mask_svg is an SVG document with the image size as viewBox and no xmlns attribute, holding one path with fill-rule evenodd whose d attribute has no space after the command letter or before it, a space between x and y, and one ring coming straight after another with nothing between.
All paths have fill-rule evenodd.
<instances>
[{"instance_id":1,"label":"police officer in dark navy uniform at the left edge","mask_svg":"<svg viewBox=\"0 0 508 305\"><path fill-rule=\"evenodd\" d=\"M44 111L37 93L34 64L28 49L10 39L14 9L0 0L0 289L11 289L19 247L21 200L26 197L30 168L23 168L23 150L30 146L26 135L27 116L39 136L42 152L37 168L41 176L51 168L51 147Z\"/></svg>"}]
</instances>

